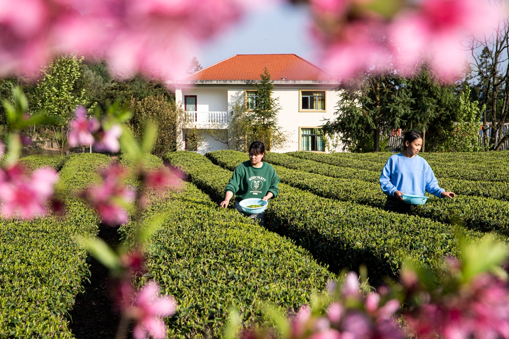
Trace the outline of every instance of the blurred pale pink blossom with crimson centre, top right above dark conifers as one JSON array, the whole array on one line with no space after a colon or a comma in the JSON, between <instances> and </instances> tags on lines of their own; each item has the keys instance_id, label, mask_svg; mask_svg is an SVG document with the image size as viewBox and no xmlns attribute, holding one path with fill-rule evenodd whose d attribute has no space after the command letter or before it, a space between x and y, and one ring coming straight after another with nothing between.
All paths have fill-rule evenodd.
<instances>
[{"instance_id":1,"label":"blurred pale pink blossom with crimson centre, top right above dark conifers","mask_svg":"<svg viewBox=\"0 0 509 339\"><path fill-rule=\"evenodd\" d=\"M402 13L389 25L399 71L411 75L427 59L442 79L453 80L467 57L461 40L467 34L483 34L498 12L485 1L422 1L417 10Z\"/></svg>"}]
</instances>

